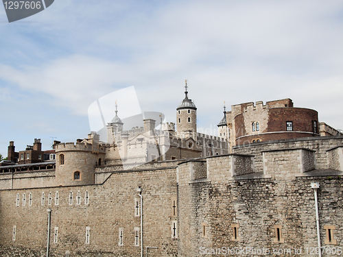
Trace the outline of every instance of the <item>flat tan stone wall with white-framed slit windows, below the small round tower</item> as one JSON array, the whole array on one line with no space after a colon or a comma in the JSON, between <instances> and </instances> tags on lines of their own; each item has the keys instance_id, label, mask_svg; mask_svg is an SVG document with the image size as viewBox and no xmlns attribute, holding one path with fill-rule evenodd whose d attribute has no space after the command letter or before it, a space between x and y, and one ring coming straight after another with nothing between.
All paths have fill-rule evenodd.
<instances>
[{"instance_id":1,"label":"flat tan stone wall with white-framed slit windows, below the small round tower","mask_svg":"<svg viewBox=\"0 0 343 257\"><path fill-rule=\"evenodd\" d=\"M140 217L135 215L136 200L139 199L137 186L141 186L143 195L144 249L146 246L158 247L150 249L150 253L176 256L177 239L171 238L171 221L176 219L171 201L177 195L175 169L113 173L103 185L0 191L0 252L13 249L10 256L14 256L14 251L23 248L23 257L41 256L47 245L47 208L51 208L50 256L65 256L67 251L69 256L80 257L139 256L140 238L139 246L134 246L134 229L140 228ZM45 204L42 205L43 192ZM19 206L16 206L17 194ZM14 225L15 241L12 240ZM58 243L54 243L56 227ZM90 228L88 244L86 227ZM119 246L119 228L123 228L123 246Z\"/></svg>"}]
</instances>

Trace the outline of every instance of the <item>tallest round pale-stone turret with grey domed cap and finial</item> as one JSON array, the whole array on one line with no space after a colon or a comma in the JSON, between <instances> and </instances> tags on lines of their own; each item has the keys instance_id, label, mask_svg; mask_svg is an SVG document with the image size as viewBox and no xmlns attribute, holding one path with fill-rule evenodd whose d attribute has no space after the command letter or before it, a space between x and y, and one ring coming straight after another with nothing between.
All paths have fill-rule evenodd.
<instances>
[{"instance_id":1,"label":"tallest round pale-stone turret with grey domed cap and finial","mask_svg":"<svg viewBox=\"0 0 343 257\"><path fill-rule=\"evenodd\" d=\"M187 80L185 89L185 99L176 108L177 131L182 137L191 136L196 140L196 105L188 99Z\"/></svg>"}]
</instances>

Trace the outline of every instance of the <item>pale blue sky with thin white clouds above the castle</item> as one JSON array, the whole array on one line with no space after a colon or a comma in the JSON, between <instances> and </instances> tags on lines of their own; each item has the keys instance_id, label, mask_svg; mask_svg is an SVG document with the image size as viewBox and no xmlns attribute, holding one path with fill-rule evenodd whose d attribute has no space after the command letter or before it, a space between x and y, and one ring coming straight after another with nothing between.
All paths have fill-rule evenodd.
<instances>
[{"instance_id":1,"label":"pale blue sky with thin white clouds above the castle","mask_svg":"<svg viewBox=\"0 0 343 257\"><path fill-rule=\"evenodd\" d=\"M217 134L224 101L285 98L343 129L343 1L55 0L13 23L0 6L0 35L3 156L86 138L88 107L130 86L175 122L185 79L200 132ZM113 116L115 100L121 117L130 97Z\"/></svg>"}]
</instances>

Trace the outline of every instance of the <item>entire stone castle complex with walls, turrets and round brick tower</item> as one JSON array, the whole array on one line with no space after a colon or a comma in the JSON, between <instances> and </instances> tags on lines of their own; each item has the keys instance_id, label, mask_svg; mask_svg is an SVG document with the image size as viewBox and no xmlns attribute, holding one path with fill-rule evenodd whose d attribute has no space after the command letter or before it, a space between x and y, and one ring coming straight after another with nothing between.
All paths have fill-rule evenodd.
<instances>
[{"instance_id":1,"label":"entire stone castle complex with walls, turrets and round brick tower","mask_svg":"<svg viewBox=\"0 0 343 257\"><path fill-rule=\"evenodd\" d=\"M186 84L176 123L146 115L131 130L114 100L107 142L91 132L42 151L36 138L16 152L11 141L0 166L0 255L342 251L342 134L291 99L224 106L218 136L201 134L190 95Z\"/></svg>"}]
</instances>

